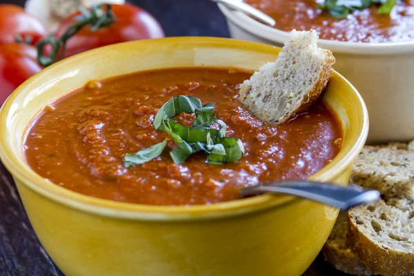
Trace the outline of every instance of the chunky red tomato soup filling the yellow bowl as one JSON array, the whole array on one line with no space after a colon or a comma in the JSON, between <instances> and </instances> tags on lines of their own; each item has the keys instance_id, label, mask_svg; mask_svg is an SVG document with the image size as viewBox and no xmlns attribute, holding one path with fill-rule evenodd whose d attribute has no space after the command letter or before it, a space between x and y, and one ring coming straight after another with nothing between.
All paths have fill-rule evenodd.
<instances>
[{"instance_id":1,"label":"chunky red tomato soup filling the yellow bowl","mask_svg":"<svg viewBox=\"0 0 414 276\"><path fill-rule=\"evenodd\" d=\"M211 204L239 199L239 188L259 181L313 175L339 151L339 121L319 103L287 124L264 124L238 100L239 83L251 74L172 68L86 86L33 121L26 159L39 175L64 188L135 204ZM159 108L179 95L215 102L215 116L227 126L226 137L243 141L243 157L217 166L206 163L206 153L200 151L175 164L169 152L177 142L166 131L155 130L154 121ZM174 119L189 127L195 117L181 112ZM161 155L126 168L127 154L163 141Z\"/></svg>"}]
</instances>

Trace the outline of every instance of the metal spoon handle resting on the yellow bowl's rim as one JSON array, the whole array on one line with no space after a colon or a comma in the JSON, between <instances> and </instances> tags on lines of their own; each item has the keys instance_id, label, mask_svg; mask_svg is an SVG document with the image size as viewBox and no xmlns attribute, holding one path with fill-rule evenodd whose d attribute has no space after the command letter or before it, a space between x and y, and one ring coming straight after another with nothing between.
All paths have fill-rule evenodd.
<instances>
[{"instance_id":1,"label":"metal spoon handle resting on the yellow bowl's rim","mask_svg":"<svg viewBox=\"0 0 414 276\"><path fill-rule=\"evenodd\" d=\"M326 205L331 205L342 210L359 205L377 201L380 192L377 190L366 190L360 186L338 186L329 183L314 181L270 181L264 184L242 188L239 190L242 197L259 195L263 193L282 193L296 195Z\"/></svg>"}]
</instances>

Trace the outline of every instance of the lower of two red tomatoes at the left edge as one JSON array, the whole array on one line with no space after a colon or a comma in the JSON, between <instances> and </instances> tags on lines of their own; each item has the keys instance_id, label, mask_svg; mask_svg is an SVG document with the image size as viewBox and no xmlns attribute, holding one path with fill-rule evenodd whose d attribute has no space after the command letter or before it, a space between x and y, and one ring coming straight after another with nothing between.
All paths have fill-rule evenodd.
<instances>
[{"instance_id":1,"label":"lower of two red tomatoes at the left edge","mask_svg":"<svg viewBox=\"0 0 414 276\"><path fill-rule=\"evenodd\" d=\"M41 70L37 51L26 44L0 44L0 106L23 81Z\"/></svg>"}]
</instances>

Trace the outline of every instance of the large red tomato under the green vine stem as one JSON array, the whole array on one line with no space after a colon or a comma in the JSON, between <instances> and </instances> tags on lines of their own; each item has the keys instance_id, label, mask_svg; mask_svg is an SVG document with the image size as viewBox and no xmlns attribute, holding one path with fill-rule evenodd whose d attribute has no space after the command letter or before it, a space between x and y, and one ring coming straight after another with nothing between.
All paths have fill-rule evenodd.
<instances>
[{"instance_id":1,"label":"large red tomato under the green vine stem","mask_svg":"<svg viewBox=\"0 0 414 276\"><path fill-rule=\"evenodd\" d=\"M115 22L95 31L91 30L91 26L83 27L75 36L68 39L65 57L114 43L164 37L164 31L158 21L146 10L128 3L111 6ZM63 20L56 37L60 37L68 26L75 22L73 17L77 15L79 12Z\"/></svg>"}]
</instances>

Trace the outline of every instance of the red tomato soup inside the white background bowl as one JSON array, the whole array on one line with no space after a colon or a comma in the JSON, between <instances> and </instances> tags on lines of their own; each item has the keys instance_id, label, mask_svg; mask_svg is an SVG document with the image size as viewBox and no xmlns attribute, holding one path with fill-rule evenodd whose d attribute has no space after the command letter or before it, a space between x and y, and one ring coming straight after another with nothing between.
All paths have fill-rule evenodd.
<instances>
[{"instance_id":1,"label":"red tomato soup inside the white background bowl","mask_svg":"<svg viewBox=\"0 0 414 276\"><path fill-rule=\"evenodd\" d=\"M389 14L380 14L380 5L350 12L335 18L324 1L317 0L245 0L276 21L275 28L290 32L315 29L321 39L351 42L402 42L414 40L414 1L397 1ZM341 1L344 3L344 1ZM337 1L339 3L339 1ZM319 8L318 8L319 6ZM343 11L342 11L343 12Z\"/></svg>"}]
</instances>

